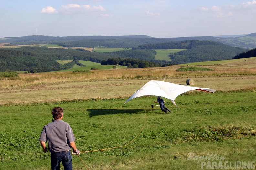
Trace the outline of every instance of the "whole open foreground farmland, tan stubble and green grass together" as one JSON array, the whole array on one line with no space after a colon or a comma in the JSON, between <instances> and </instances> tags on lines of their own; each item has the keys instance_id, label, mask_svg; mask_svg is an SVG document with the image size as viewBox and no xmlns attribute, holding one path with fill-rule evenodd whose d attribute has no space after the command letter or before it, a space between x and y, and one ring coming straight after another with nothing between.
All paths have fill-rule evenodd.
<instances>
[{"instance_id":1,"label":"whole open foreground farmland, tan stubble and green grass together","mask_svg":"<svg viewBox=\"0 0 256 170\"><path fill-rule=\"evenodd\" d=\"M38 138L56 106L64 109L63 120L73 128L81 152L124 146L134 139L124 147L81 153L89 169L253 169L255 62L256 57L187 64L214 71L177 72L188 66L176 65L2 79L0 169L50 169L50 154L43 153ZM178 108L166 99L169 114L159 106L151 108L155 96L124 104L149 80L164 79L182 85L193 79L193 86L217 92L180 95ZM210 160L202 159L210 155ZM73 156L73 169L86 169L82 161Z\"/></svg>"}]
</instances>

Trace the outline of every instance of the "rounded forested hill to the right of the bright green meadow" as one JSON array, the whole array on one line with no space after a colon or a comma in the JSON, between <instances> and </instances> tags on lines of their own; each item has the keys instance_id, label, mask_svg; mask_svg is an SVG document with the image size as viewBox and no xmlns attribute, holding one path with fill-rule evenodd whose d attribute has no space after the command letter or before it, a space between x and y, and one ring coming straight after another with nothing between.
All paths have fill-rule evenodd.
<instances>
[{"instance_id":1,"label":"rounded forested hill to the right of the bright green meadow","mask_svg":"<svg viewBox=\"0 0 256 170\"><path fill-rule=\"evenodd\" d=\"M228 60L232 59L235 55L247 51L244 48L230 47L219 42L199 40L145 44L133 49L187 49L169 55L172 62L176 64Z\"/></svg>"}]
</instances>

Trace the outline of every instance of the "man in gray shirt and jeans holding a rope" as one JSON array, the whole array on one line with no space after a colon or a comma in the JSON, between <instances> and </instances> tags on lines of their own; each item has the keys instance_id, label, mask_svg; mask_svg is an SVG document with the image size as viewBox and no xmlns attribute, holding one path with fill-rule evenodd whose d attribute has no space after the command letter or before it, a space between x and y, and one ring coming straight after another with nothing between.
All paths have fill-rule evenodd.
<instances>
[{"instance_id":1,"label":"man in gray shirt and jeans holding a rope","mask_svg":"<svg viewBox=\"0 0 256 170\"><path fill-rule=\"evenodd\" d=\"M72 170L72 155L70 149L73 149L73 154L79 155L80 151L76 148L75 136L70 125L62 120L63 109L56 107L52 109L52 120L44 126L41 135L40 143L44 153L51 153L51 169L59 170L60 162L64 166L64 170ZM48 141L48 148L46 147Z\"/></svg>"}]
</instances>

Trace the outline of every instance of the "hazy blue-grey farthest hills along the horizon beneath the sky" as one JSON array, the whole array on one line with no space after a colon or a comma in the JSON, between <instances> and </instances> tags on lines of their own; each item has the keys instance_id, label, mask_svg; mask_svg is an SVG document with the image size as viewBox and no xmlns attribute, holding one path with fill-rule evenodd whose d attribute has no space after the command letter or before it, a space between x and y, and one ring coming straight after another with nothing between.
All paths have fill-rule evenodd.
<instances>
[{"instance_id":1,"label":"hazy blue-grey farthest hills along the horizon beneath the sky","mask_svg":"<svg viewBox=\"0 0 256 170\"><path fill-rule=\"evenodd\" d=\"M225 35L226 36L226 35ZM178 38L154 38L147 35L127 36L67 36L54 37L43 35L32 35L24 37L0 38L0 43L11 43L9 45L31 45L31 44L58 44L64 47L108 47L108 48L132 48L144 44L179 42L185 40L207 40L223 43L231 47L245 49L256 48L256 33L248 35L225 36L199 36L199 37L178 37ZM228 36L228 35L227 35ZM230 35L231 36L231 35ZM237 37L238 36L238 37Z\"/></svg>"}]
</instances>

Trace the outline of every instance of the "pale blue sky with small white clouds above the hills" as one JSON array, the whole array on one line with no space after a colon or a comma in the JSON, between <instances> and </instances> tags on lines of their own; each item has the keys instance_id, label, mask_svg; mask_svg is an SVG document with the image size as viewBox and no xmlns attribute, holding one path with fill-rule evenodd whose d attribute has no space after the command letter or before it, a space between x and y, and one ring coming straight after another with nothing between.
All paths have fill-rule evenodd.
<instances>
[{"instance_id":1,"label":"pale blue sky with small white clouds above the hills","mask_svg":"<svg viewBox=\"0 0 256 170\"><path fill-rule=\"evenodd\" d=\"M27 35L148 35L256 32L256 0L6 0L0 38Z\"/></svg>"}]
</instances>

